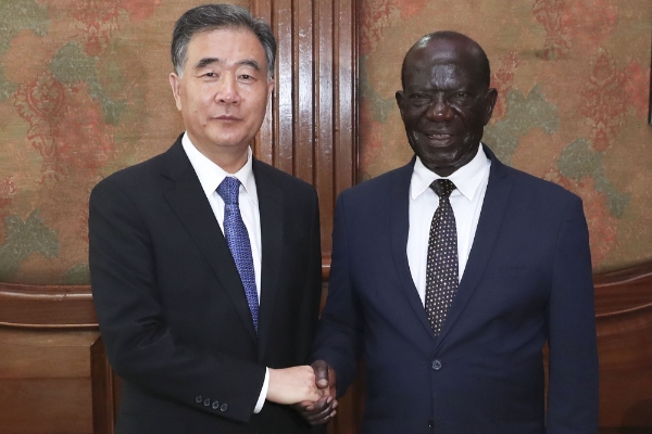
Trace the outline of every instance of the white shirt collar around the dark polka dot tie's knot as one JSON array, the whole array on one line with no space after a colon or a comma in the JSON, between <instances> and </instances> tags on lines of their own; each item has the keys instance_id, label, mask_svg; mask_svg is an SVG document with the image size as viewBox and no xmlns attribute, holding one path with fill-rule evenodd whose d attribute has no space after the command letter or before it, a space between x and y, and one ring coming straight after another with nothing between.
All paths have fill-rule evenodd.
<instances>
[{"instance_id":1,"label":"white shirt collar around the dark polka dot tie's knot","mask_svg":"<svg viewBox=\"0 0 652 434\"><path fill-rule=\"evenodd\" d=\"M480 187L482 178L490 166L491 162L487 158L480 143L476 156L471 162L453 171L451 176L446 177L446 179L450 179L464 197L473 201L473 197L477 193L478 187ZM440 177L424 166L421 158L417 156L416 162L414 163L412 181L410 183L410 196L412 200L418 197L424 191L428 190L434 180L440 178L444 177Z\"/></svg>"}]
</instances>

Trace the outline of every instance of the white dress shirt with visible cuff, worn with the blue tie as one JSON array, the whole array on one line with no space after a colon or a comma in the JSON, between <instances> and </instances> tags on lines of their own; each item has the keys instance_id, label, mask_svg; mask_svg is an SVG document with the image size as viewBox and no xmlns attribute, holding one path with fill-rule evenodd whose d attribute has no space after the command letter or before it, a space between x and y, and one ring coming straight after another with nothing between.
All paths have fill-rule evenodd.
<instances>
[{"instance_id":1,"label":"white dress shirt with visible cuff, worn with the blue tie","mask_svg":"<svg viewBox=\"0 0 652 434\"><path fill-rule=\"evenodd\" d=\"M209 159L204 154L199 152L197 148L190 141L188 133L184 133L181 138L181 145L190 164L199 178L201 188L211 204L213 214L222 233L224 233L224 200L217 194L217 187L222 183L224 178L233 176L240 181L240 190L238 195L238 202L240 206L240 215L242 221L247 227L249 233L249 242L251 243L251 255L253 256L253 271L255 273L255 290L258 293L258 299L260 304L261 299L261 263L262 263L262 250L261 250L261 213L259 210L258 190L255 188L255 179L253 177L252 166L252 153L249 148L247 153L247 163L240 170L235 174L228 174L222 167ZM258 413L262 410L265 404L265 397L267 396L267 388L269 387L269 369L265 371L265 381L263 382L263 388L259 396L259 400L253 410Z\"/></svg>"}]
</instances>

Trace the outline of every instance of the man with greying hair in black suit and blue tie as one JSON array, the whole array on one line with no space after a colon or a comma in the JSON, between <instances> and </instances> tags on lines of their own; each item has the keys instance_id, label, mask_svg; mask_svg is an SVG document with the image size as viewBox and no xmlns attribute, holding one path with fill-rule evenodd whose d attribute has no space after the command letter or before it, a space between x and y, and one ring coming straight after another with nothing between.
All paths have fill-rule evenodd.
<instances>
[{"instance_id":1,"label":"man with greying hair in black suit and blue tie","mask_svg":"<svg viewBox=\"0 0 652 434\"><path fill-rule=\"evenodd\" d=\"M321 296L317 196L250 149L275 49L242 8L186 12L170 75L186 132L91 193L93 299L124 381L117 433L311 431L288 405L319 398L299 366Z\"/></svg>"}]
</instances>

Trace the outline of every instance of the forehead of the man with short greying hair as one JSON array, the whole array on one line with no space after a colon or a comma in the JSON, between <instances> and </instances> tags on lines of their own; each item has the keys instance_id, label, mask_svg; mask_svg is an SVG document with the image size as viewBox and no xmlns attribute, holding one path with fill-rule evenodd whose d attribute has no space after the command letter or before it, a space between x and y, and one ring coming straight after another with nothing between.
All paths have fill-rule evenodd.
<instances>
[{"instance_id":1,"label":"forehead of the man with short greying hair","mask_svg":"<svg viewBox=\"0 0 652 434\"><path fill-rule=\"evenodd\" d=\"M265 66L265 50L261 41L246 28L220 28L192 35L188 42L187 65L192 66L204 58L226 63L250 59Z\"/></svg>"}]
</instances>

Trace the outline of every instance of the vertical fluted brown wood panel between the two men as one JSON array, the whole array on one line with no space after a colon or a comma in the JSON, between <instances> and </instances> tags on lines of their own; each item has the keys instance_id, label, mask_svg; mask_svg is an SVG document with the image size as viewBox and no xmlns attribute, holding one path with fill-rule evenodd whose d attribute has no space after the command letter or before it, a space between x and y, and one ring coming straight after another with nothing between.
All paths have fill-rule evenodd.
<instances>
[{"instance_id":1,"label":"vertical fluted brown wood panel between the two men","mask_svg":"<svg viewBox=\"0 0 652 434\"><path fill-rule=\"evenodd\" d=\"M251 10L278 42L276 86L254 154L317 190L327 277L335 202L356 182L355 0L253 0Z\"/></svg>"}]
</instances>

